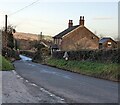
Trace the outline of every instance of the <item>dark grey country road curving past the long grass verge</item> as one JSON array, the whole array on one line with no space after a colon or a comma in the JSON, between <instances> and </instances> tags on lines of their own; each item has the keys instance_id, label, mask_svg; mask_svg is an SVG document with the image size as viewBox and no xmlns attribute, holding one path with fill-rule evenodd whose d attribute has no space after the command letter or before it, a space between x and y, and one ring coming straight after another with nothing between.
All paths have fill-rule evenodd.
<instances>
[{"instance_id":1,"label":"dark grey country road curving past the long grass verge","mask_svg":"<svg viewBox=\"0 0 120 105\"><path fill-rule=\"evenodd\" d=\"M24 79L68 103L118 103L118 83L33 63L24 56L14 62Z\"/></svg>"}]
</instances>

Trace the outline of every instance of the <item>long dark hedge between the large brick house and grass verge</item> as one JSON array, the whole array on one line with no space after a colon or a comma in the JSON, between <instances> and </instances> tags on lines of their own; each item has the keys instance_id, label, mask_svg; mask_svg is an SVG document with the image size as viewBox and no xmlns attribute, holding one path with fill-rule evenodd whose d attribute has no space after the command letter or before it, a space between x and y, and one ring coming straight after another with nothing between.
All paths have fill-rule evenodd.
<instances>
[{"instance_id":1,"label":"long dark hedge between the large brick house and grass verge","mask_svg":"<svg viewBox=\"0 0 120 105\"><path fill-rule=\"evenodd\" d=\"M65 51L55 51L53 58L63 59ZM120 49L68 51L69 60L120 63Z\"/></svg>"}]
</instances>

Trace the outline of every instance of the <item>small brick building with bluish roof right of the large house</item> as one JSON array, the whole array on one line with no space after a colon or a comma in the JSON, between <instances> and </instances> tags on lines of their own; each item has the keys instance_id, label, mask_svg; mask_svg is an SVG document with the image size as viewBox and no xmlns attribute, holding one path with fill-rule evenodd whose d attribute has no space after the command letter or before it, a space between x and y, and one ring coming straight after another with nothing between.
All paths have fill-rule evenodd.
<instances>
[{"instance_id":1,"label":"small brick building with bluish roof right of the large house","mask_svg":"<svg viewBox=\"0 0 120 105\"><path fill-rule=\"evenodd\" d=\"M117 42L110 37L104 37L99 41L99 49L117 48Z\"/></svg>"}]
</instances>

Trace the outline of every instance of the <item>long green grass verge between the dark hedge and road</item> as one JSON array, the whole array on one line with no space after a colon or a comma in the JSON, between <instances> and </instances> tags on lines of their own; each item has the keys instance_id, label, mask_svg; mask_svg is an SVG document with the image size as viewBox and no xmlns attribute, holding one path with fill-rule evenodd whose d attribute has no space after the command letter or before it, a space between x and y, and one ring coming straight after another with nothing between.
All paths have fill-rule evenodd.
<instances>
[{"instance_id":1,"label":"long green grass verge between the dark hedge and road","mask_svg":"<svg viewBox=\"0 0 120 105\"><path fill-rule=\"evenodd\" d=\"M120 65L117 63L65 61L64 59L51 58L47 60L46 64L64 70L112 81L118 81L118 77L120 76L120 71L118 70Z\"/></svg>"}]
</instances>

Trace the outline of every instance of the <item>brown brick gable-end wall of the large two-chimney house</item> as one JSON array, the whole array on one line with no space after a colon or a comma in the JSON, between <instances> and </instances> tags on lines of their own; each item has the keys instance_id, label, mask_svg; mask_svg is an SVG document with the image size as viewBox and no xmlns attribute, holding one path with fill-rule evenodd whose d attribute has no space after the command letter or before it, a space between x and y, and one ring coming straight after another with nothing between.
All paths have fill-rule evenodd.
<instances>
[{"instance_id":1,"label":"brown brick gable-end wall of the large two-chimney house","mask_svg":"<svg viewBox=\"0 0 120 105\"><path fill-rule=\"evenodd\" d=\"M78 27L62 39L61 50L98 49L99 38L86 27Z\"/></svg>"}]
</instances>

